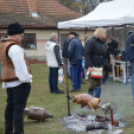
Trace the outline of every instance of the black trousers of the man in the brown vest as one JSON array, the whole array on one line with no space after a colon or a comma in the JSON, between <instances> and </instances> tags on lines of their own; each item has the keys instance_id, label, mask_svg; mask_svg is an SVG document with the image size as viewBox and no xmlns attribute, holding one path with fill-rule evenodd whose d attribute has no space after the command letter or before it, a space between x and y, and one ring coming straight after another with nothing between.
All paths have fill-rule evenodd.
<instances>
[{"instance_id":1,"label":"black trousers of the man in the brown vest","mask_svg":"<svg viewBox=\"0 0 134 134\"><path fill-rule=\"evenodd\" d=\"M23 83L17 87L7 88L5 120L13 120L15 123L23 121L23 111L30 90L30 83Z\"/></svg>"}]
</instances>

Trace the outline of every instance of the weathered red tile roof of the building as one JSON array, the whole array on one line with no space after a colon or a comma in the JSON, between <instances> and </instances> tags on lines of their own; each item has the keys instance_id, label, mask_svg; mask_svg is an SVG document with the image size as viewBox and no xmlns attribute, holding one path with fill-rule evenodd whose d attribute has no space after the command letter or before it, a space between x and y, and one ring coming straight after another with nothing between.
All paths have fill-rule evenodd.
<instances>
[{"instance_id":1,"label":"weathered red tile roof of the building","mask_svg":"<svg viewBox=\"0 0 134 134\"><path fill-rule=\"evenodd\" d=\"M55 0L34 0L38 18L32 18L30 11L31 0L0 0L0 26L19 22L24 26L57 27L59 21L79 18L82 15L62 6ZM32 0L33 1L33 0Z\"/></svg>"}]
</instances>

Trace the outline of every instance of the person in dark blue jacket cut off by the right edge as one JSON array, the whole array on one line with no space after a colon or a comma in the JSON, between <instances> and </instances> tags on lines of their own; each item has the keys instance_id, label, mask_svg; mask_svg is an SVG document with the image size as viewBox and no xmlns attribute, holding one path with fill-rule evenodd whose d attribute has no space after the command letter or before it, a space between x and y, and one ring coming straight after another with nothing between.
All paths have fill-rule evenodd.
<instances>
[{"instance_id":1,"label":"person in dark blue jacket cut off by the right edge","mask_svg":"<svg viewBox=\"0 0 134 134\"><path fill-rule=\"evenodd\" d=\"M132 95L134 100L134 32L131 32L126 42L126 59L130 61L131 77L132 77Z\"/></svg>"}]
</instances>

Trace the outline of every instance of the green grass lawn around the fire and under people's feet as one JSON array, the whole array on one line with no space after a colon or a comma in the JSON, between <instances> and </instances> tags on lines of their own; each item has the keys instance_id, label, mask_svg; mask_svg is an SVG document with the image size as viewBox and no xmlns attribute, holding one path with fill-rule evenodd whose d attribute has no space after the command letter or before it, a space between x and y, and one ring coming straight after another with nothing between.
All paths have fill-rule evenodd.
<instances>
[{"instance_id":1,"label":"green grass lawn around the fire and under people's feet","mask_svg":"<svg viewBox=\"0 0 134 134\"><path fill-rule=\"evenodd\" d=\"M27 108L30 106L37 106L46 108L50 114L54 115L53 119L47 119L45 122L37 122L24 119L25 134L75 134L68 129L65 129L62 122L63 118L67 116L67 99L66 99L66 84L59 84L60 90L65 91L64 94L50 94L48 76L49 69L46 64L32 65L32 72L34 74L32 90L27 101ZM70 93L70 96L77 93L87 93L89 82L82 85L81 91ZM72 88L69 80L69 89ZM6 90L1 89L0 85L0 134L4 134L4 111L6 106ZM124 85L120 82L113 82L109 80L107 85L102 86L103 102L116 102L118 105L118 112L115 117L120 117L122 120L130 123L128 128L124 129L124 134L134 134L134 106L131 95L130 84ZM71 113L74 114L78 107L72 101ZM93 114L93 113L91 113Z\"/></svg>"}]
</instances>

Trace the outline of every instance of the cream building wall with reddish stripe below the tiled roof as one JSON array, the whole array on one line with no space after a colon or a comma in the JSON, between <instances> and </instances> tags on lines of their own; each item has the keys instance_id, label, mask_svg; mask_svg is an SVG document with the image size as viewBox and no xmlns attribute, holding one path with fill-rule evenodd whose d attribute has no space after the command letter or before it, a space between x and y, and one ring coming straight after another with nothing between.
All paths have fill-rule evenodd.
<instances>
[{"instance_id":1,"label":"cream building wall with reddish stripe below the tiled roof","mask_svg":"<svg viewBox=\"0 0 134 134\"><path fill-rule=\"evenodd\" d=\"M6 33L6 29L0 29L0 33ZM73 30L75 31L75 30ZM61 46L61 34L67 34L70 30L59 30L59 45ZM85 43L85 31L75 31L79 35L79 39L82 44ZM36 50L25 50L29 59L38 59L39 61L45 60L45 43L50 38L51 33L57 33L58 30L46 30L46 29L25 29L25 33L36 33ZM92 36L93 31L87 31L87 35Z\"/></svg>"}]
</instances>

